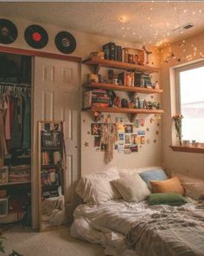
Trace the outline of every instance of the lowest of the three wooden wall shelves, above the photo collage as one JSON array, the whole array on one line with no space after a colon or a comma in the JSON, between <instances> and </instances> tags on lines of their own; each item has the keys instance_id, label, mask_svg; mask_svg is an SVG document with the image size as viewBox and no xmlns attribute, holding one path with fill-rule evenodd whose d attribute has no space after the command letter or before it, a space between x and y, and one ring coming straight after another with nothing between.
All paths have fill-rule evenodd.
<instances>
[{"instance_id":1,"label":"lowest of the three wooden wall shelves, above the photo collage","mask_svg":"<svg viewBox=\"0 0 204 256\"><path fill-rule=\"evenodd\" d=\"M108 112L108 113L126 113L131 114L131 121L134 121L138 114L163 114L162 109L143 109L143 108L99 108L99 107L92 107L92 108L84 108L84 111L89 112Z\"/></svg>"}]
</instances>

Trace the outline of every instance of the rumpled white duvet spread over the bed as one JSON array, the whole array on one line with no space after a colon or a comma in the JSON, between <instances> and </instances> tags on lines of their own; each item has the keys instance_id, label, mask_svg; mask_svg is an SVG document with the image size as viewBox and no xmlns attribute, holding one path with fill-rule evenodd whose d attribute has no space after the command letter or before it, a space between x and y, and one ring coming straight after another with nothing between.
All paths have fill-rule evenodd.
<instances>
[{"instance_id":1,"label":"rumpled white duvet spread over the bed","mask_svg":"<svg viewBox=\"0 0 204 256\"><path fill-rule=\"evenodd\" d=\"M131 226L153 213L173 211L175 208L167 205L149 206L145 201L137 204L124 200L110 200L99 206L80 205L74 211L71 236L104 246L105 255L138 255L125 243L125 235ZM195 206L192 201L182 208L194 211Z\"/></svg>"}]
</instances>

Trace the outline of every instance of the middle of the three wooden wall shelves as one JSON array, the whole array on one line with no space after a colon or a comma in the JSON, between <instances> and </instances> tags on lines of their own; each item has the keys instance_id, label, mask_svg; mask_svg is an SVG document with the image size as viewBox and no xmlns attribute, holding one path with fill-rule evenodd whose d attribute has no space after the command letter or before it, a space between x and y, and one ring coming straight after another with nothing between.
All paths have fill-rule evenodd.
<instances>
[{"instance_id":1,"label":"middle of the three wooden wall shelves","mask_svg":"<svg viewBox=\"0 0 204 256\"><path fill-rule=\"evenodd\" d=\"M163 89L148 89L143 87L131 87L131 86L124 86L124 85L116 85L112 83L105 83L105 82L89 82L85 84L88 88L95 88L95 89L106 89L106 90L119 90L119 91L128 91L140 94L161 94L163 93Z\"/></svg>"}]
</instances>

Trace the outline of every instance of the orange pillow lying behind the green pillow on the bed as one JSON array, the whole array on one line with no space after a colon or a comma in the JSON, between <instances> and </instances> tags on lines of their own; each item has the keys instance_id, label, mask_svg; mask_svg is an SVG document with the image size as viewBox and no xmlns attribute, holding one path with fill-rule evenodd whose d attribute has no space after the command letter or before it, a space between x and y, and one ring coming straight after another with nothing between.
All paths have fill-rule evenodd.
<instances>
[{"instance_id":1,"label":"orange pillow lying behind the green pillow on the bed","mask_svg":"<svg viewBox=\"0 0 204 256\"><path fill-rule=\"evenodd\" d=\"M184 194L184 189L178 177L167 181L150 181L153 193L176 193Z\"/></svg>"}]
</instances>

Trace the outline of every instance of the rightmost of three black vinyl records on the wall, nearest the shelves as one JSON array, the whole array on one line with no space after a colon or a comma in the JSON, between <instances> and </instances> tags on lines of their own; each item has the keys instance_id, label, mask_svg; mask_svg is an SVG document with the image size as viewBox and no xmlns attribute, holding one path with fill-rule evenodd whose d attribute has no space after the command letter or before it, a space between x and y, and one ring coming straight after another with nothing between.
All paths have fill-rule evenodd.
<instances>
[{"instance_id":1,"label":"rightmost of three black vinyl records on the wall, nearest the shelves","mask_svg":"<svg viewBox=\"0 0 204 256\"><path fill-rule=\"evenodd\" d=\"M55 36L55 45L61 52L69 54L76 49L76 40L69 32L61 31Z\"/></svg>"}]
</instances>

